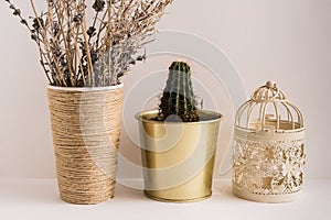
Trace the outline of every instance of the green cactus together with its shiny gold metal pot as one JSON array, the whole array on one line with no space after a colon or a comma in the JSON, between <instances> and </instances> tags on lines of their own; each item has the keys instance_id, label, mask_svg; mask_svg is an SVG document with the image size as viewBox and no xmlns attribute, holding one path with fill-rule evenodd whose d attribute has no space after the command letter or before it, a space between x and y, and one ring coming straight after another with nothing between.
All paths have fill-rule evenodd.
<instances>
[{"instance_id":1,"label":"green cactus together with its shiny gold metal pot","mask_svg":"<svg viewBox=\"0 0 331 220\"><path fill-rule=\"evenodd\" d=\"M222 114L197 109L186 63L171 64L159 108L136 118L145 195L175 202L210 197Z\"/></svg>"}]
</instances>

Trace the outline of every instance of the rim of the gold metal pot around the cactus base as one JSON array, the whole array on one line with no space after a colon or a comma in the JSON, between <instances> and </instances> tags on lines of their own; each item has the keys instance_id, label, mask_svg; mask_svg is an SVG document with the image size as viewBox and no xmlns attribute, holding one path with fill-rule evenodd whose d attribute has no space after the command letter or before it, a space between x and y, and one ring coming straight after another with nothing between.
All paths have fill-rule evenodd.
<instances>
[{"instance_id":1,"label":"rim of the gold metal pot around the cactus base","mask_svg":"<svg viewBox=\"0 0 331 220\"><path fill-rule=\"evenodd\" d=\"M224 120L224 116L215 112L215 111L210 111L210 110L197 110L197 114L207 114L210 117L212 117L212 119L207 119L207 120L202 120L202 121L196 121L196 122L172 122L172 121L156 121L149 118L153 118L158 114L159 109L151 109L151 110L146 110L146 111L141 111L135 114L135 118L138 121L145 122L145 123L156 123L156 124L202 124L202 123L212 123L212 122L217 122L217 121L222 121ZM147 117L147 118L146 118Z\"/></svg>"}]
</instances>

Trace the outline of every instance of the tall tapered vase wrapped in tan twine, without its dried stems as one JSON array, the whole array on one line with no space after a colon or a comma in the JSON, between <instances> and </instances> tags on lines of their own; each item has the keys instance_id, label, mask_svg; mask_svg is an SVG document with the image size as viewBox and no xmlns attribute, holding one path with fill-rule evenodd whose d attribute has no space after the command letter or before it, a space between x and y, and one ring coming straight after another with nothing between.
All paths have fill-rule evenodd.
<instances>
[{"instance_id":1,"label":"tall tapered vase wrapped in tan twine, without its dried stems","mask_svg":"<svg viewBox=\"0 0 331 220\"><path fill-rule=\"evenodd\" d=\"M98 204L114 196L122 85L47 88L61 198Z\"/></svg>"}]
</instances>

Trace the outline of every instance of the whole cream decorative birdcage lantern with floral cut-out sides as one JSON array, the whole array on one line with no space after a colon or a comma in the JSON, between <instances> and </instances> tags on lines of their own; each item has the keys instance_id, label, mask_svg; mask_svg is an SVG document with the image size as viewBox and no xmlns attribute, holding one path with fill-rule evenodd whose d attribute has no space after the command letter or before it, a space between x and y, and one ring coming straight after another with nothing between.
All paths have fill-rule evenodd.
<instances>
[{"instance_id":1,"label":"whole cream decorative birdcage lantern with floral cut-out sides","mask_svg":"<svg viewBox=\"0 0 331 220\"><path fill-rule=\"evenodd\" d=\"M236 113L233 193L261 202L295 200L301 193L305 163L302 114L268 81Z\"/></svg>"}]
</instances>

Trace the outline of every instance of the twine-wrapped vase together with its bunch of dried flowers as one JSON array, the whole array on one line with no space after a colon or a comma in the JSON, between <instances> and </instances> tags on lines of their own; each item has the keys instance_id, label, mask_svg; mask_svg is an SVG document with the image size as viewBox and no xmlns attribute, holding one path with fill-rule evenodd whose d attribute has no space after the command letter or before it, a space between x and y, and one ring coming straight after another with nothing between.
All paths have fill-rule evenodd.
<instances>
[{"instance_id":1,"label":"twine-wrapped vase together with its bunch of dried flowers","mask_svg":"<svg viewBox=\"0 0 331 220\"><path fill-rule=\"evenodd\" d=\"M111 198L121 125L120 78L146 58L137 53L152 40L172 0L47 0L42 12L30 0L30 19L4 1L30 31L49 80L61 198L73 204Z\"/></svg>"}]
</instances>

